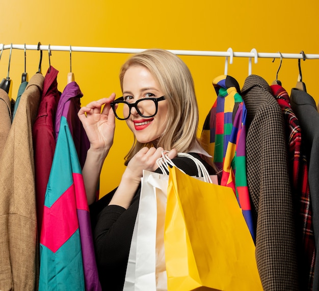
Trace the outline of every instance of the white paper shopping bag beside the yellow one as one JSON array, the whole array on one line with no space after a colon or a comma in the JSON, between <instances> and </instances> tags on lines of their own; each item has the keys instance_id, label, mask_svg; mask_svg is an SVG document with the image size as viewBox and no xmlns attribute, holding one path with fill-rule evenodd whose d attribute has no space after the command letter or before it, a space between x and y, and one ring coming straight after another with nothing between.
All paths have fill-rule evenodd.
<instances>
[{"instance_id":1,"label":"white paper shopping bag beside the yellow one","mask_svg":"<svg viewBox=\"0 0 319 291\"><path fill-rule=\"evenodd\" d=\"M123 290L165 291L164 224L168 176L144 170L141 181L139 210Z\"/></svg>"}]
</instances>

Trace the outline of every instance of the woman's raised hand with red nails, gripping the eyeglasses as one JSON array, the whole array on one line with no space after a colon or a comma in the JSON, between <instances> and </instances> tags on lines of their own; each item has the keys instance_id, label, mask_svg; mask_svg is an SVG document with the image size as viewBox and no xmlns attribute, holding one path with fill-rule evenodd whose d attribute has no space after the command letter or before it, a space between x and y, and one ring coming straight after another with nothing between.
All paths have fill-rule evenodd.
<instances>
[{"instance_id":1,"label":"woman's raised hand with red nails, gripping the eyeglasses","mask_svg":"<svg viewBox=\"0 0 319 291\"><path fill-rule=\"evenodd\" d=\"M114 99L115 94L112 93L109 98L90 102L77 113L89 138L91 150L107 154L113 144L115 115L110 103Z\"/></svg>"}]
</instances>

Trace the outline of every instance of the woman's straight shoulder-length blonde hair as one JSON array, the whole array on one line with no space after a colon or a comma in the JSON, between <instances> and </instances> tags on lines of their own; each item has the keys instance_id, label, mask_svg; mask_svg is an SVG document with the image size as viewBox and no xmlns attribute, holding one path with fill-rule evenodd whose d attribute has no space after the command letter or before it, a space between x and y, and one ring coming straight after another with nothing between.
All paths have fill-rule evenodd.
<instances>
[{"instance_id":1,"label":"woman's straight shoulder-length blonde hair","mask_svg":"<svg viewBox=\"0 0 319 291\"><path fill-rule=\"evenodd\" d=\"M131 66L143 66L158 81L168 103L167 124L163 134L157 139L156 147L166 151L175 148L187 153L197 141L198 105L194 81L189 68L175 54L164 49L148 49L128 59L120 70L120 84ZM136 139L125 157L125 164L143 147L154 146L140 143Z\"/></svg>"}]
</instances>

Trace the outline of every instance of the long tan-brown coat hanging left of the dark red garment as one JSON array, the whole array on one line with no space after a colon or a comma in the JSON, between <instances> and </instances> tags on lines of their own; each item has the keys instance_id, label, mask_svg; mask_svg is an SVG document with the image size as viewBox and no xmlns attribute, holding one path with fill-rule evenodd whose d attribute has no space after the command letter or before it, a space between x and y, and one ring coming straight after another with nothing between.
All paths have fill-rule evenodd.
<instances>
[{"instance_id":1,"label":"long tan-brown coat hanging left of the dark red garment","mask_svg":"<svg viewBox=\"0 0 319 291\"><path fill-rule=\"evenodd\" d=\"M21 96L0 158L0 290L36 287L37 219L32 125L44 77L35 74Z\"/></svg>"}]
</instances>

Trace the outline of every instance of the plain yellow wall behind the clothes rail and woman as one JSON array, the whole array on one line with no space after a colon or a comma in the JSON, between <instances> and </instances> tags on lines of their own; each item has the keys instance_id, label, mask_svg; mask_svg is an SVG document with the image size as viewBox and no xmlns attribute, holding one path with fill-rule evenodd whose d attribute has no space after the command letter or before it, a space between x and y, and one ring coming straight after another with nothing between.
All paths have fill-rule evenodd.
<instances>
[{"instance_id":1,"label":"plain yellow wall behind the clothes rail and woman","mask_svg":"<svg viewBox=\"0 0 319 291\"><path fill-rule=\"evenodd\" d=\"M319 2L297 1L3 1L0 7L0 43L72 45L126 48L164 48L258 52L319 53ZM0 61L0 78L8 72L9 51ZM26 71L38 70L39 52L26 51ZM128 54L73 52L72 72L84 97L82 104L109 96L121 96L118 73ZM224 73L225 57L180 56L189 66L199 102L199 133L216 93L211 81ZM59 70L62 92L70 70L70 54L52 51L51 65ZM280 60L258 59L252 73L269 83L276 78ZM307 92L319 100L319 60L301 62ZM48 69L43 51L42 73ZM13 50L10 65L12 97L16 98L24 70L23 50ZM248 58L234 57L228 74L242 87L248 76ZM298 61L283 59L278 79L288 93L296 85ZM1 125L0 125L1 126ZM101 195L116 187L124 170L123 158L132 143L125 122L117 121L114 146L104 163Z\"/></svg>"}]
</instances>

